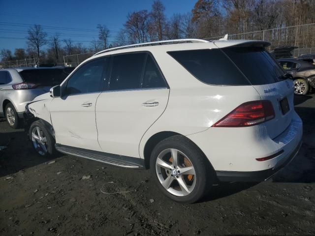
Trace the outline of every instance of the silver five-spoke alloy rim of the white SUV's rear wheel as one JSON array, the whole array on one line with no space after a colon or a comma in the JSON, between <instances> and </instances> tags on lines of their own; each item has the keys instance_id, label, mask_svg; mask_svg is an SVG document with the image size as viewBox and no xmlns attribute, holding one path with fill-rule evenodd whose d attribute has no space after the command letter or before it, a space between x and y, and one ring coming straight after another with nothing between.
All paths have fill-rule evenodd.
<instances>
[{"instance_id":1,"label":"silver five-spoke alloy rim of the white SUV's rear wheel","mask_svg":"<svg viewBox=\"0 0 315 236\"><path fill-rule=\"evenodd\" d=\"M168 148L156 160L156 173L161 185L175 196L189 195L196 185L195 169L183 152Z\"/></svg>"}]
</instances>

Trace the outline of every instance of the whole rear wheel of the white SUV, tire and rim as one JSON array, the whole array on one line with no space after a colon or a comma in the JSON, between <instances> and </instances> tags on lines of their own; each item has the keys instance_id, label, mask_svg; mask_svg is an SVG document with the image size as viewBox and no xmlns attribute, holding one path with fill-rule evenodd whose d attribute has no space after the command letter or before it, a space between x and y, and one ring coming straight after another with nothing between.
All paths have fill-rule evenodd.
<instances>
[{"instance_id":1,"label":"whole rear wheel of the white SUV, tire and rim","mask_svg":"<svg viewBox=\"0 0 315 236\"><path fill-rule=\"evenodd\" d=\"M176 153L177 165L173 165ZM199 148L182 135L158 143L151 154L150 169L158 188L167 197L180 203L198 201L210 190L216 179L210 162Z\"/></svg>"}]
</instances>

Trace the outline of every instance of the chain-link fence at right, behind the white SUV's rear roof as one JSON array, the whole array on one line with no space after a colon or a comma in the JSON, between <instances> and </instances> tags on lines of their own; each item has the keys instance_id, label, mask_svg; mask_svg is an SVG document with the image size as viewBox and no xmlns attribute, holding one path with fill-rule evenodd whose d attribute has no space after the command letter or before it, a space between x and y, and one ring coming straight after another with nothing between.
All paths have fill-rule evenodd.
<instances>
[{"instance_id":1,"label":"chain-link fence at right, behind the white SUV's rear roof","mask_svg":"<svg viewBox=\"0 0 315 236\"><path fill-rule=\"evenodd\" d=\"M206 38L218 40L220 37ZM228 35L228 39L255 39L271 43L267 48L276 58L315 59L315 23Z\"/></svg>"}]
</instances>

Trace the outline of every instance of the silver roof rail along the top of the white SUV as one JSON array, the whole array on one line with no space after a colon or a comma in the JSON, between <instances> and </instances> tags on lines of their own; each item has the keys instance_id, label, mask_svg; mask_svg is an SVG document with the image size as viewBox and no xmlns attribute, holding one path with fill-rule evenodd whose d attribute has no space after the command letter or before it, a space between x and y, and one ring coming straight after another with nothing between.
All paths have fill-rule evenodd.
<instances>
[{"instance_id":1,"label":"silver roof rail along the top of the white SUV","mask_svg":"<svg viewBox=\"0 0 315 236\"><path fill-rule=\"evenodd\" d=\"M127 48L137 48L137 47L145 47L145 46L155 46L155 45L162 45L162 44L175 44L175 43L208 43L209 41L204 39L194 39L194 38L183 38L183 39L172 39L172 40L163 40L163 41L156 41L156 42L148 42L148 43L137 43L137 44L131 44L116 48L109 48L105 49L103 51L100 51L98 53L95 53L95 55L99 55L101 53L107 53L111 51L116 51L120 49L127 49Z\"/></svg>"}]
</instances>

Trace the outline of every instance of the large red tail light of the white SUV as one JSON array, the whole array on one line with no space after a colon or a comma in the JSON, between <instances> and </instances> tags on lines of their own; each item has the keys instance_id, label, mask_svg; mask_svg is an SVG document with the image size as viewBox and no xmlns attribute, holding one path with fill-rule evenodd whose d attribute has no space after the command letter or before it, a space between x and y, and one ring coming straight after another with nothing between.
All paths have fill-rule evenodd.
<instances>
[{"instance_id":1,"label":"large red tail light of the white SUV","mask_svg":"<svg viewBox=\"0 0 315 236\"><path fill-rule=\"evenodd\" d=\"M275 117L272 103L267 100L243 103L221 118L213 127L246 127Z\"/></svg>"}]
</instances>

